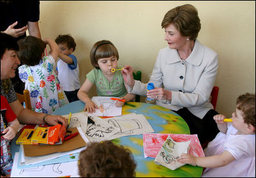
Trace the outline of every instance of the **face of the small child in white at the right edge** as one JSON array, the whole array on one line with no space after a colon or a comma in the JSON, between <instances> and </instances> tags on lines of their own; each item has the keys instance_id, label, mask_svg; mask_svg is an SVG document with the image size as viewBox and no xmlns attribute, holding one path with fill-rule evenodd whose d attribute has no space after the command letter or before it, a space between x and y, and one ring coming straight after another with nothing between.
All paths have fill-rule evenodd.
<instances>
[{"instance_id":1,"label":"face of the small child in white at the right edge","mask_svg":"<svg viewBox=\"0 0 256 178\"><path fill-rule=\"evenodd\" d=\"M243 134L248 134L246 131L248 124L244 122L243 115L243 111L236 108L235 112L232 113L232 124L235 127L235 129L237 129L237 131L240 131Z\"/></svg>"}]
</instances>

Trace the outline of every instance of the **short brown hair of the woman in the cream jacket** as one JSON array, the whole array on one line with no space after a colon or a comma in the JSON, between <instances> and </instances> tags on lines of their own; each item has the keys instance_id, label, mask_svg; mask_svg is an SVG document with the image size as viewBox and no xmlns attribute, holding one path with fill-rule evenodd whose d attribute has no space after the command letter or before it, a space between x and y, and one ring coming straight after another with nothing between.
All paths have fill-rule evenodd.
<instances>
[{"instance_id":1,"label":"short brown hair of the woman in the cream jacket","mask_svg":"<svg viewBox=\"0 0 256 178\"><path fill-rule=\"evenodd\" d=\"M196 40L201 29L198 10L191 4L176 6L169 10L162 20L162 28L173 24L182 36L189 36L190 40Z\"/></svg>"}]
</instances>

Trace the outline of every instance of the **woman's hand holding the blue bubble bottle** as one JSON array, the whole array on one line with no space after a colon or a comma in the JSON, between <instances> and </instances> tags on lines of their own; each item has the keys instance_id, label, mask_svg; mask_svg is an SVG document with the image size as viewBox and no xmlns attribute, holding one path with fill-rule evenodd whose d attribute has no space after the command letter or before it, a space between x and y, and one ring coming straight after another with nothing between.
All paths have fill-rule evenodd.
<instances>
[{"instance_id":1,"label":"woman's hand holding the blue bubble bottle","mask_svg":"<svg viewBox=\"0 0 256 178\"><path fill-rule=\"evenodd\" d=\"M171 101L171 92L164 88L154 88L153 90L148 90L147 97L151 99Z\"/></svg>"}]
</instances>

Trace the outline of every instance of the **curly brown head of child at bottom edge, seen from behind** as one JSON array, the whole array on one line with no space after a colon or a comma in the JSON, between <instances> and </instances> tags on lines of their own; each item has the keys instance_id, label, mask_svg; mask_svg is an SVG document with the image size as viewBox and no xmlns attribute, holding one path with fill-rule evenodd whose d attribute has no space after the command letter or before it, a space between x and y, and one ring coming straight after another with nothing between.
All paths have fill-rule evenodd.
<instances>
[{"instance_id":1,"label":"curly brown head of child at bottom edge, seen from behind","mask_svg":"<svg viewBox=\"0 0 256 178\"><path fill-rule=\"evenodd\" d=\"M80 152L80 177L135 177L136 163L132 153L110 140L91 142Z\"/></svg>"}]
</instances>

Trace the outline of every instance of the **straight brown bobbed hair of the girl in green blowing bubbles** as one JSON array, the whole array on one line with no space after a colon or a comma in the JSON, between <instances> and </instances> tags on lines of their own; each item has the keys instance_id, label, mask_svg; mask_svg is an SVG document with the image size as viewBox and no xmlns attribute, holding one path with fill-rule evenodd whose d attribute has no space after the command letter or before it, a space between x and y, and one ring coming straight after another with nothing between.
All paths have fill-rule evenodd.
<instances>
[{"instance_id":1,"label":"straight brown bobbed hair of the girl in green blowing bubbles","mask_svg":"<svg viewBox=\"0 0 256 178\"><path fill-rule=\"evenodd\" d=\"M90 50L90 62L96 69L99 69L97 66L99 59L109 58L111 56L115 56L117 60L119 59L119 54L116 47L108 40L96 42L96 44L94 44Z\"/></svg>"}]
</instances>

